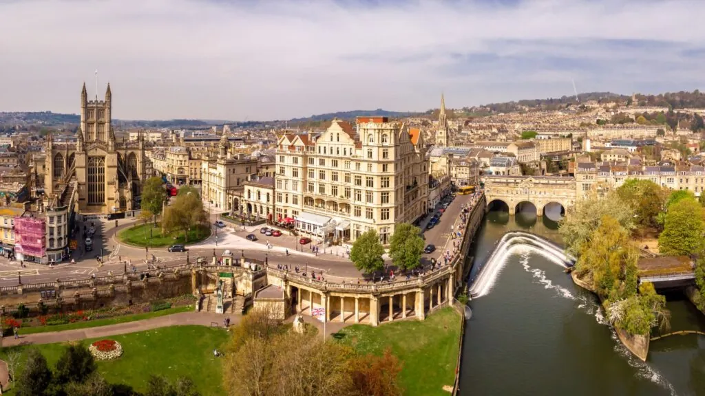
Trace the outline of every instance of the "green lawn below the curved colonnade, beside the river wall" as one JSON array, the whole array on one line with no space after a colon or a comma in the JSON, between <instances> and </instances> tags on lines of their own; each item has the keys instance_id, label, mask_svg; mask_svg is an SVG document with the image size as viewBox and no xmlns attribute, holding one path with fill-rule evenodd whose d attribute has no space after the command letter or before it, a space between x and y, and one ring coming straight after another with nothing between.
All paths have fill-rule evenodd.
<instances>
[{"instance_id":1,"label":"green lawn below the curved colonnade, beside the river wall","mask_svg":"<svg viewBox=\"0 0 705 396\"><path fill-rule=\"evenodd\" d=\"M391 347L403 362L400 380L405 395L448 395L443 385L455 383L460 314L453 308L436 311L425 321L353 325L333 337L362 353L381 354Z\"/></svg>"}]
</instances>

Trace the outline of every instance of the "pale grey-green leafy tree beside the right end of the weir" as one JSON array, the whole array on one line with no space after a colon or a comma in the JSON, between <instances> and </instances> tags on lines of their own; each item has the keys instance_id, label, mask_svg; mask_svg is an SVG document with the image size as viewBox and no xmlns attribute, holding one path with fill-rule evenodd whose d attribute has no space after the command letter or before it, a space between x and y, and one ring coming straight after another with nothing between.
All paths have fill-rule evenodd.
<instances>
[{"instance_id":1,"label":"pale grey-green leafy tree beside the right end of the weir","mask_svg":"<svg viewBox=\"0 0 705 396\"><path fill-rule=\"evenodd\" d=\"M570 254L580 255L582 245L589 241L606 215L616 219L627 231L635 226L634 211L617 194L608 194L602 199L590 197L581 201L580 205L568 208L568 214L560 221L558 233Z\"/></svg>"}]
</instances>

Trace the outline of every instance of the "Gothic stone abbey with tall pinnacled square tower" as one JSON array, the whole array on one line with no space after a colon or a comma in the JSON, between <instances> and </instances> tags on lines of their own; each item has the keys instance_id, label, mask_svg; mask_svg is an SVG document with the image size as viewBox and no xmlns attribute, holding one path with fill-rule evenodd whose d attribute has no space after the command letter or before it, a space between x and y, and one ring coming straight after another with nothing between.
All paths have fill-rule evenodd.
<instances>
[{"instance_id":1,"label":"Gothic stone abbey with tall pinnacled square tower","mask_svg":"<svg viewBox=\"0 0 705 396\"><path fill-rule=\"evenodd\" d=\"M44 192L63 194L76 180L78 210L109 214L139 208L140 186L147 178L145 141L116 142L111 125L110 84L105 99L88 100L85 83L81 91L80 127L75 143L54 143L47 137Z\"/></svg>"}]
</instances>

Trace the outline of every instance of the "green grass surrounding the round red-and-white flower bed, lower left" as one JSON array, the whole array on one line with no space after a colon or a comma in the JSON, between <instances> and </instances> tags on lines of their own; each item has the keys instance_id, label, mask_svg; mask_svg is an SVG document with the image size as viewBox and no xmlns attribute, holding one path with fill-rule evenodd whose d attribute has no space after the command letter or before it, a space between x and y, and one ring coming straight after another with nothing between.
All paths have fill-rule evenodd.
<instances>
[{"instance_id":1,"label":"green grass surrounding the round red-and-white flower bed, lower left","mask_svg":"<svg viewBox=\"0 0 705 396\"><path fill-rule=\"evenodd\" d=\"M108 338L121 343L123 356L113 361L99 361L98 371L109 383L124 383L139 392L145 391L150 374L159 374L171 380L188 376L201 395L223 395L221 360L213 356L213 349L220 348L228 339L228 334L220 328L172 326L114 335ZM99 339L82 342L95 340ZM36 347L53 368L64 345L57 343ZM25 348L3 348L0 359L5 359L9 350Z\"/></svg>"}]
</instances>

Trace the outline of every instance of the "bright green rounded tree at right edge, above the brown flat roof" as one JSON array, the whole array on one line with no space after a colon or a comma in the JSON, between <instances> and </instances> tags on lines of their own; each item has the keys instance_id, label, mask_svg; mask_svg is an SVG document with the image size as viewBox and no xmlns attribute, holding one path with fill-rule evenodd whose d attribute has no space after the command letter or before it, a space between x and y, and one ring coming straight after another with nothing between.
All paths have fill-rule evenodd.
<instances>
[{"instance_id":1,"label":"bright green rounded tree at right edge, above the brown flat roof","mask_svg":"<svg viewBox=\"0 0 705 396\"><path fill-rule=\"evenodd\" d=\"M673 256L699 253L704 230L702 206L690 197L680 199L666 212L663 233L658 236L659 251Z\"/></svg>"}]
</instances>

